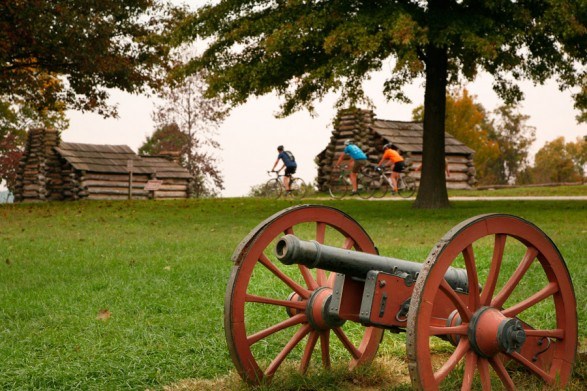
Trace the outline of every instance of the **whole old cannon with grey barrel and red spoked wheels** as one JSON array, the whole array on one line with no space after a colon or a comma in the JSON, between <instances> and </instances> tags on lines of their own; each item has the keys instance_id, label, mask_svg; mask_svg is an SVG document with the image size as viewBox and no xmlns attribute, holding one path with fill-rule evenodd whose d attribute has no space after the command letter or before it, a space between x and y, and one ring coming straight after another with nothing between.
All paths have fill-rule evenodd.
<instances>
[{"instance_id":1,"label":"whole old cannon with grey barrel and red spoked wheels","mask_svg":"<svg viewBox=\"0 0 587 391\"><path fill-rule=\"evenodd\" d=\"M520 217L465 220L420 263L381 256L340 210L299 205L261 222L232 260L224 329L248 383L368 364L385 330L405 332L415 389L570 380L573 284L555 244Z\"/></svg>"}]
</instances>

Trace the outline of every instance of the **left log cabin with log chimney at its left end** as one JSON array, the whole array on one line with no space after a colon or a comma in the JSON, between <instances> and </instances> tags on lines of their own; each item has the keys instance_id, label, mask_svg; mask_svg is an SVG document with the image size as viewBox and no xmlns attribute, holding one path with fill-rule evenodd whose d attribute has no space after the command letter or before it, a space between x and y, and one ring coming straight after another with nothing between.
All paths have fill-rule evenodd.
<instances>
[{"instance_id":1,"label":"left log cabin with log chimney at its left end","mask_svg":"<svg viewBox=\"0 0 587 391\"><path fill-rule=\"evenodd\" d=\"M15 202L189 198L191 184L190 173L171 156L140 156L126 145L62 142L55 130L32 129L14 198Z\"/></svg>"}]
</instances>

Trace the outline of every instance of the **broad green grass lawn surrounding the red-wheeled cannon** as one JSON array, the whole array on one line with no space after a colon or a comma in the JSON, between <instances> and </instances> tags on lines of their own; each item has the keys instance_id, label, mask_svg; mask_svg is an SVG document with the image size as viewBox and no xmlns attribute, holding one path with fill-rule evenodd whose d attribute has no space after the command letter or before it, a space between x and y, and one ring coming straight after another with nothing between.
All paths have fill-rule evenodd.
<instances>
[{"instance_id":1,"label":"broad green grass lawn surrounding the red-wheeled cannon","mask_svg":"<svg viewBox=\"0 0 587 391\"><path fill-rule=\"evenodd\" d=\"M566 259L585 343L587 202L454 202L433 211L409 202L323 203L353 216L383 255L418 262L471 216L504 212L534 222ZM230 257L261 220L290 205L260 199L0 205L0 389L159 389L225 376L233 369L223 332ZM99 319L102 310L106 319ZM380 355L403 358L405 336L387 335ZM585 365L577 367L575 377L584 379ZM302 386L290 389L340 388L317 376L327 380L294 377Z\"/></svg>"}]
</instances>

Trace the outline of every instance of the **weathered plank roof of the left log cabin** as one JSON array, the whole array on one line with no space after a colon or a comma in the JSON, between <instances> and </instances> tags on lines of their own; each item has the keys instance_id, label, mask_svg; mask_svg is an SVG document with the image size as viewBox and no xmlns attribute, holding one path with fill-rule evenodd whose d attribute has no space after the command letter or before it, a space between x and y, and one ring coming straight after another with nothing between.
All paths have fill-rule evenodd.
<instances>
[{"instance_id":1,"label":"weathered plank roof of the left log cabin","mask_svg":"<svg viewBox=\"0 0 587 391\"><path fill-rule=\"evenodd\" d=\"M179 164L160 156L138 156L127 145L61 142L55 150L80 171L128 173L128 164L132 161L133 173L136 174L156 174L158 178L190 177L189 172Z\"/></svg>"}]
</instances>

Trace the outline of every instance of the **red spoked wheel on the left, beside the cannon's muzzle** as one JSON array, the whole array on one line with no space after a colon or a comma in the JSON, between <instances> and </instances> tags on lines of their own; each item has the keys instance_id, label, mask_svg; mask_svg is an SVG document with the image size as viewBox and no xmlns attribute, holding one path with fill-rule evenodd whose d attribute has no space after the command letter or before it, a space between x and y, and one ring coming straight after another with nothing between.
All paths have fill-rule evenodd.
<instances>
[{"instance_id":1,"label":"red spoked wheel on the left, beside the cannon's muzzle","mask_svg":"<svg viewBox=\"0 0 587 391\"><path fill-rule=\"evenodd\" d=\"M231 358L251 384L280 368L302 373L340 362L349 368L373 360L383 330L331 319L325 312L335 273L286 266L275 257L285 234L375 253L367 233L333 208L301 205L259 224L237 247L228 282L224 327Z\"/></svg>"}]
</instances>

